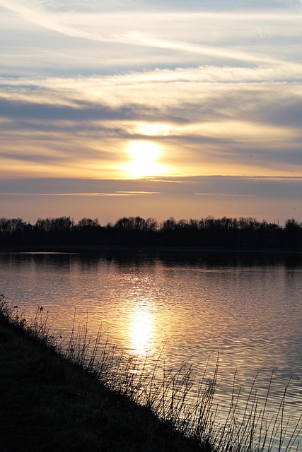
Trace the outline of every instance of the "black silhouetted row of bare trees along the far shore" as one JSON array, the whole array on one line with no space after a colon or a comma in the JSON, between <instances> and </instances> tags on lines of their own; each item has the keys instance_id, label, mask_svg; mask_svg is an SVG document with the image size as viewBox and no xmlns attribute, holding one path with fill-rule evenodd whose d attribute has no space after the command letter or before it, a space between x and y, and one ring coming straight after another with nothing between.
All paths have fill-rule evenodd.
<instances>
[{"instance_id":1,"label":"black silhouetted row of bare trees along the far shore","mask_svg":"<svg viewBox=\"0 0 302 452\"><path fill-rule=\"evenodd\" d=\"M284 226L255 218L213 218L158 222L154 218L123 217L100 225L97 218L0 218L0 246L151 246L228 249L291 249L302 251L302 222Z\"/></svg>"}]
</instances>

